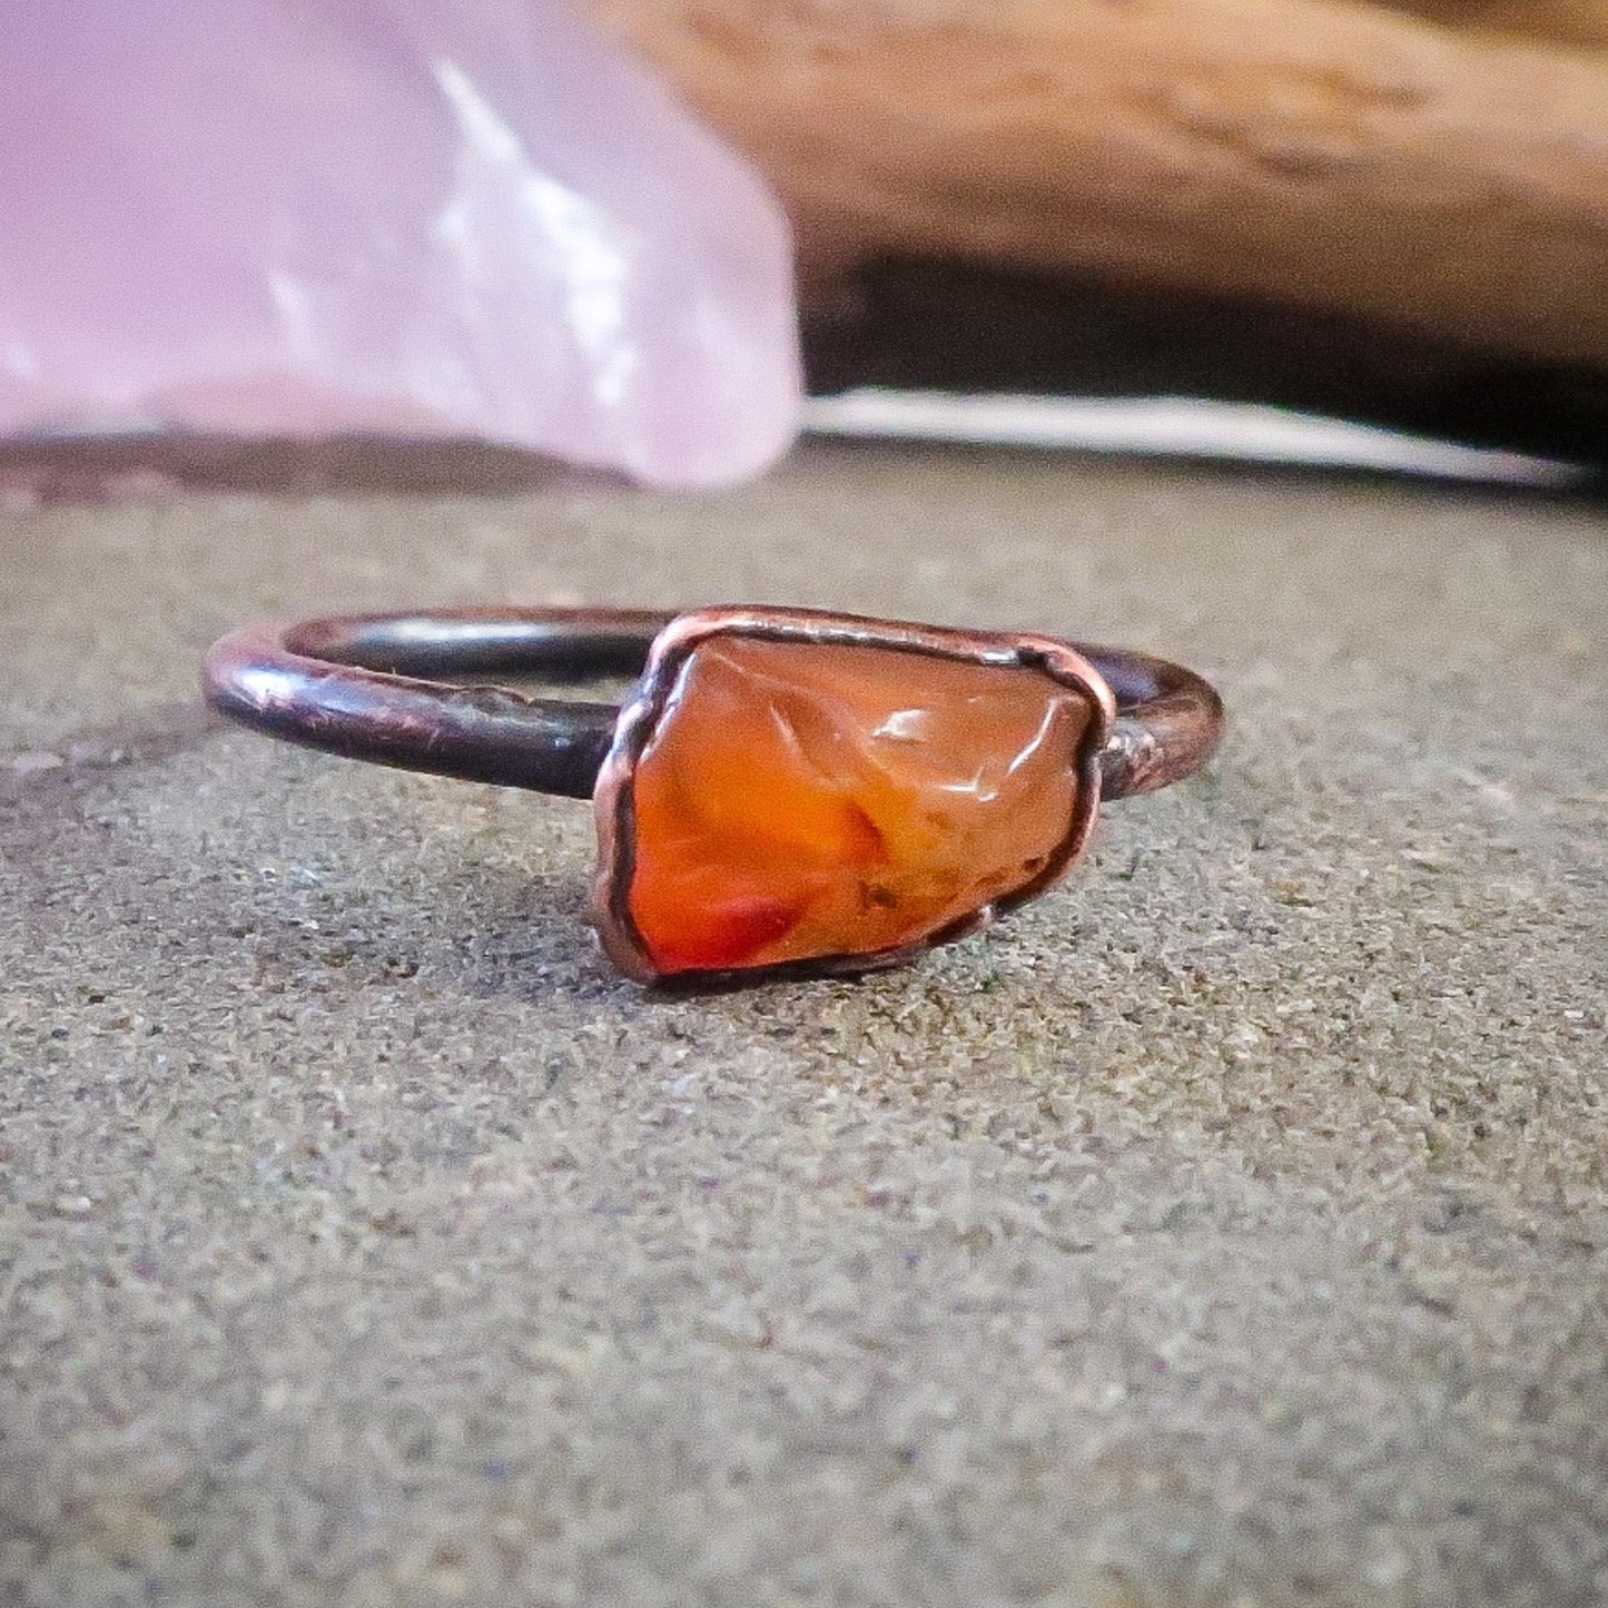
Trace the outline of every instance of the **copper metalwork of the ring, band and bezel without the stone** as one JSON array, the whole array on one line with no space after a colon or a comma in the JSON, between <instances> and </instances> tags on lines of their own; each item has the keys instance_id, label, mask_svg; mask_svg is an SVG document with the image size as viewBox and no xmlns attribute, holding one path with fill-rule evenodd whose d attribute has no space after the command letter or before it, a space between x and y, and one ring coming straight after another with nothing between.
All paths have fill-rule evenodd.
<instances>
[{"instance_id":1,"label":"copper metalwork of the ring, band and bezel without the stone","mask_svg":"<svg viewBox=\"0 0 1608 1608\"><path fill-rule=\"evenodd\" d=\"M1190 775L1212 754L1222 730L1222 701L1211 685L1148 654L769 606L690 614L490 606L254 626L214 643L204 685L214 708L285 741L470 781L592 798L601 847L595 921L603 946L621 970L658 981L667 968L637 929L630 902L634 781L679 677L699 646L716 640L892 650L1026 669L1076 690L1087 712L1077 751L1068 756L1077 781L1064 833L1019 886L909 944L675 971L854 973L976 931L1064 875L1101 801L1151 793ZM640 680L624 708L463 685L498 674Z\"/></svg>"}]
</instances>

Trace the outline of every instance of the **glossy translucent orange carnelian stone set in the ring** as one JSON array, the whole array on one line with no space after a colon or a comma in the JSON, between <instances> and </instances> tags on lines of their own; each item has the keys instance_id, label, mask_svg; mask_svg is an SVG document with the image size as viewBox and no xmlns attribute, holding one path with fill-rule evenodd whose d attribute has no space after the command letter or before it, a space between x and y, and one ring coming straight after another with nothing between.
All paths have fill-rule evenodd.
<instances>
[{"instance_id":1,"label":"glossy translucent orange carnelian stone set in the ring","mask_svg":"<svg viewBox=\"0 0 1608 1608\"><path fill-rule=\"evenodd\" d=\"M1073 831L1093 712L1036 669L701 642L632 783L654 970L875 957L1023 889Z\"/></svg>"}]
</instances>

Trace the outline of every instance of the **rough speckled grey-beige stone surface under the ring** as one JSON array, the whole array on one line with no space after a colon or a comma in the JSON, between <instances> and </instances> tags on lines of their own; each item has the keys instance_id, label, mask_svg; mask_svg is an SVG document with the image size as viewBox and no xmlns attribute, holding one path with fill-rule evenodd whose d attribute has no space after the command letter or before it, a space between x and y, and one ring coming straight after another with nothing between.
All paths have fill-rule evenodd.
<instances>
[{"instance_id":1,"label":"rough speckled grey-beige stone surface under the ring","mask_svg":"<svg viewBox=\"0 0 1608 1608\"><path fill-rule=\"evenodd\" d=\"M0 574L0 1600L1608 1598L1600 510L814 450ZM1233 732L918 970L656 999L584 806L198 709L470 598L1079 632Z\"/></svg>"}]
</instances>

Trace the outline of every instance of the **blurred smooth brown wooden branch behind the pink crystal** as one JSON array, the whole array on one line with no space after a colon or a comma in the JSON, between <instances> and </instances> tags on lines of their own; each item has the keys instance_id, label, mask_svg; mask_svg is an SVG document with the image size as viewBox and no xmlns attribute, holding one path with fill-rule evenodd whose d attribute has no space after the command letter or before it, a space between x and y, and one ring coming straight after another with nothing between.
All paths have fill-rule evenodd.
<instances>
[{"instance_id":1,"label":"blurred smooth brown wooden branch behind the pink crystal","mask_svg":"<svg viewBox=\"0 0 1608 1608\"><path fill-rule=\"evenodd\" d=\"M1608 51L1339 0L589 3L765 169L807 270L1076 269L1608 365Z\"/></svg>"}]
</instances>

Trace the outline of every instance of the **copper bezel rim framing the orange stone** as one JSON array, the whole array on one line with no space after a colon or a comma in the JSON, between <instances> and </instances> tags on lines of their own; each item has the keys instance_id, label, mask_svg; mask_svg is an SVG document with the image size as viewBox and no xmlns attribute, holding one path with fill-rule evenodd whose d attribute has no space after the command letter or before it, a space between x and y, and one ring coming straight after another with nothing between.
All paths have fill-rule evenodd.
<instances>
[{"instance_id":1,"label":"copper bezel rim framing the orange stone","mask_svg":"<svg viewBox=\"0 0 1608 1608\"><path fill-rule=\"evenodd\" d=\"M997 669L1031 669L1069 687L1090 706L1074 756L1077 794L1066 836L1045 867L1011 894L899 949L875 954L822 955L781 965L746 966L736 971L677 971L666 976L654 963L630 917L630 881L635 872L635 807L632 785L637 762L658 733L680 672L693 653L716 637L788 642L815 646L883 648L928 654L963 664ZM968 632L902 621L862 619L814 609L716 608L680 614L654 638L635 693L619 712L614 738L598 772L593 806L598 828L598 868L593 884L593 925L609 960L640 982L720 982L764 978L844 976L904 965L933 949L966 937L1007 910L1036 899L1082 852L1100 810L1101 753L1106 748L1116 699L1105 677L1074 648L1048 637L1018 632Z\"/></svg>"}]
</instances>

